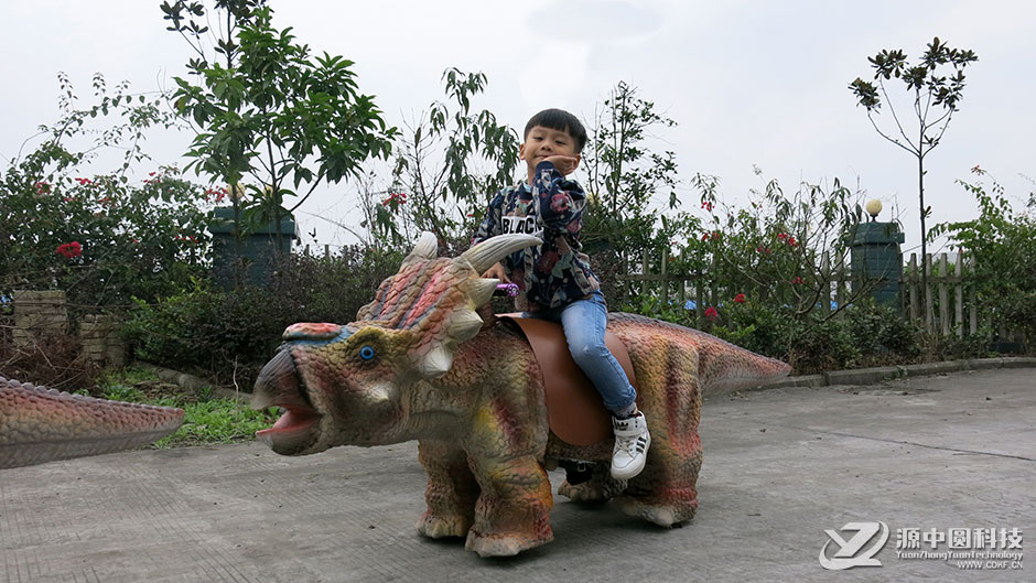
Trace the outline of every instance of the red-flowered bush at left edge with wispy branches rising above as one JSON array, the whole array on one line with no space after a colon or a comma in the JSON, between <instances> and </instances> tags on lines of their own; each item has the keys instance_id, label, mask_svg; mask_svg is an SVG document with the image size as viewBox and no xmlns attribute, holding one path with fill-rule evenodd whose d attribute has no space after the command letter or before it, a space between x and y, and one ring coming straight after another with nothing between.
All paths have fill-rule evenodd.
<instances>
[{"instance_id":1,"label":"red-flowered bush at left edge with wispy branches rising above","mask_svg":"<svg viewBox=\"0 0 1036 583\"><path fill-rule=\"evenodd\" d=\"M32 152L0 169L0 296L15 288L62 289L72 304L111 306L188 285L203 273L208 249L204 188L173 168L142 181L130 174L147 159L139 134L162 123L161 110L137 98L130 106L136 96L125 86L108 95L101 77L95 77L100 102L74 109L72 88L61 80L62 119L44 128ZM127 121L104 130L87 123L105 111L121 111ZM93 151L126 148L121 168L91 173L90 155L65 144L89 134L101 136Z\"/></svg>"}]
</instances>

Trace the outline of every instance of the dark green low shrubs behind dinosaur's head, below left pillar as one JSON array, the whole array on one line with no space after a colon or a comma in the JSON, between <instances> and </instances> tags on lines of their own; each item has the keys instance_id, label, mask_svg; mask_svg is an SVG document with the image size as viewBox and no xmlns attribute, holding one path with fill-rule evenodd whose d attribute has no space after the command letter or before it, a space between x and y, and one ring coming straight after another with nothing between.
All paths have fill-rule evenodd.
<instances>
[{"instance_id":1,"label":"dark green low shrubs behind dinosaur's head, below left pillar","mask_svg":"<svg viewBox=\"0 0 1036 583\"><path fill-rule=\"evenodd\" d=\"M400 260L395 251L347 247L330 258L287 257L268 288L223 291L196 280L190 291L139 301L125 333L142 359L250 387L288 325L354 321Z\"/></svg>"}]
</instances>

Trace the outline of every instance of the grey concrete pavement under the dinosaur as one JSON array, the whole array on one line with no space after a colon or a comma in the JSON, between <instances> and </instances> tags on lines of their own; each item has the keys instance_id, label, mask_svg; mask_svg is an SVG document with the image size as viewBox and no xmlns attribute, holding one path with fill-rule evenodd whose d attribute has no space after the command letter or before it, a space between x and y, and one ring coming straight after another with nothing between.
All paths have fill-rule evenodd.
<instances>
[{"instance_id":1,"label":"grey concrete pavement under the dinosaur","mask_svg":"<svg viewBox=\"0 0 1036 583\"><path fill-rule=\"evenodd\" d=\"M665 530L559 497L554 542L506 560L414 532L413 443L2 471L0 583L1036 581L1036 369L723 397L706 402L701 435L691 523ZM883 566L820 566L825 529L877 520L891 531ZM959 527L1021 529L1026 569L896 557L898 529Z\"/></svg>"}]
</instances>

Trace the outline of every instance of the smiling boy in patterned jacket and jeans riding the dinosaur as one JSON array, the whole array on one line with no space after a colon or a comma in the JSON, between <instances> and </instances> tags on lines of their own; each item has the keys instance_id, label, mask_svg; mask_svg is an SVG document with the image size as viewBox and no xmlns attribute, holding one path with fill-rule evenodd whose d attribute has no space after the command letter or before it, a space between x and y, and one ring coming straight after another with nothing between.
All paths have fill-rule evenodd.
<instances>
[{"instance_id":1,"label":"smiling boy in patterned jacket and jeans riding the dinosaur","mask_svg":"<svg viewBox=\"0 0 1036 583\"><path fill-rule=\"evenodd\" d=\"M564 176L579 165L585 144L586 130L572 114L546 109L533 116L518 150L528 180L497 193L472 244L507 233L543 240L509 255L484 277L514 280L527 316L561 322L572 358L612 411L612 476L629 479L644 469L651 434L637 410L636 390L604 344L607 306L589 258L580 252L586 194Z\"/></svg>"}]
</instances>

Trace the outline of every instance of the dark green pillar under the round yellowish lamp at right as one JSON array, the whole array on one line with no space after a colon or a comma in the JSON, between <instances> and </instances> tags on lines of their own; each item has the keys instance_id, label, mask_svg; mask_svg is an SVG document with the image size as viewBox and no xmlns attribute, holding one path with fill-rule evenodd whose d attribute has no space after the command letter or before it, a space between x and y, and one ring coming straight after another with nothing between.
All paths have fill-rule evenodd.
<instances>
[{"instance_id":1,"label":"dark green pillar under the round yellowish lamp at right","mask_svg":"<svg viewBox=\"0 0 1036 583\"><path fill-rule=\"evenodd\" d=\"M851 248L853 291L871 288L871 296L882 304L899 305L899 280L903 278L903 234L895 223L861 223L856 226Z\"/></svg>"}]
</instances>

